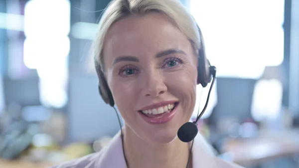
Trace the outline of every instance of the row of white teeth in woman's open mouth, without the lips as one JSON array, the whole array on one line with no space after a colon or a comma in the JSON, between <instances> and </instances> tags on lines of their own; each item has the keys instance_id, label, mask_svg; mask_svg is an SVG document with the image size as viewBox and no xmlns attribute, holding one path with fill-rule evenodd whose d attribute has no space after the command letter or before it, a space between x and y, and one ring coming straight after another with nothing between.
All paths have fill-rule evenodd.
<instances>
[{"instance_id":1,"label":"row of white teeth in woman's open mouth, without the lips","mask_svg":"<svg viewBox=\"0 0 299 168\"><path fill-rule=\"evenodd\" d=\"M148 109L148 110L142 110L139 111L140 113L142 113L143 115L150 117L150 118L161 118L166 114L169 114L172 112L172 110L175 108L175 106L178 104L178 102L176 103L169 103L167 105L158 107L158 108L152 108L152 109Z\"/></svg>"}]
</instances>

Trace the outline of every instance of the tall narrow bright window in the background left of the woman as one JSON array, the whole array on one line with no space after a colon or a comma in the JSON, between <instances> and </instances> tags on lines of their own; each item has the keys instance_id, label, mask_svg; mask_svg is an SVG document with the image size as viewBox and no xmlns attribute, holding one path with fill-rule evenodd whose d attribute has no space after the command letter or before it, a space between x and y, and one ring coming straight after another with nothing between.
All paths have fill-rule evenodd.
<instances>
[{"instance_id":1,"label":"tall narrow bright window in the background left of the woman","mask_svg":"<svg viewBox=\"0 0 299 168\"><path fill-rule=\"evenodd\" d=\"M69 0L26 3L24 63L38 72L40 101L45 106L61 108L67 103L69 32Z\"/></svg>"}]
</instances>

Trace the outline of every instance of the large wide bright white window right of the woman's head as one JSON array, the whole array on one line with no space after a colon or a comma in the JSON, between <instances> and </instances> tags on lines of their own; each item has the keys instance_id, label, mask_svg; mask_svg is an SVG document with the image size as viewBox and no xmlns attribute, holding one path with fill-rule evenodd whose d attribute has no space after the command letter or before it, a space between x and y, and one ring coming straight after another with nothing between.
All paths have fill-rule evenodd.
<instances>
[{"instance_id":1,"label":"large wide bright white window right of the woman's head","mask_svg":"<svg viewBox=\"0 0 299 168\"><path fill-rule=\"evenodd\" d=\"M218 77L258 78L284 59L284 0L190 0Z\"/></svg>"}]
</instances>

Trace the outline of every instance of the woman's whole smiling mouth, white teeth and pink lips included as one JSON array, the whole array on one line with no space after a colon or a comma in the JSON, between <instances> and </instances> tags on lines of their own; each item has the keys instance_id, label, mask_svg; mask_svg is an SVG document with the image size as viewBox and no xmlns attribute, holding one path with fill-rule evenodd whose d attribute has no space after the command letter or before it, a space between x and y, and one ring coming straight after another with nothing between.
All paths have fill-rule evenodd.
<instances>
[{"instance_id":1,"label":"woman's whole smiling mouth, white teeth and pink lips included","mask_svg":"<svg viewBox=\"0 0 299 168\"><path fill-rule=\"evenodd\" d=\"M174 117L178 104L178 102L155 104L140 110L139 113L149 124L164 124Z\"/></svg>"}]
</instances>

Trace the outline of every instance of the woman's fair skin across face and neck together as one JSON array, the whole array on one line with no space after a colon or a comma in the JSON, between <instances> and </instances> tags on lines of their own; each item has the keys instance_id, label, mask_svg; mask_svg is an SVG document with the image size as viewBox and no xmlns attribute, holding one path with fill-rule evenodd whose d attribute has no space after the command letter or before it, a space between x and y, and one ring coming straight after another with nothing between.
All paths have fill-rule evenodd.
<instances>
[{"instance_id":1,"label":"woman's fair skin across face and neck together","mask_svg":"<svg viewBox=\"0 0 299 168\"><path fill-rule=\"evenodd\" d=\"M176 52L157 57L169 49ZM185 168L189 145L177 138L177 130L192 115L197 84L197 57L187 37L163 14L131 15L111 26L103 56L108 85L125 120L130 168ZM118 59L122 56L131 59ZM141 117L143 107L169 100L178 103L170 121L150 124Z\"/></svg>"}]
</instances>

